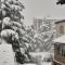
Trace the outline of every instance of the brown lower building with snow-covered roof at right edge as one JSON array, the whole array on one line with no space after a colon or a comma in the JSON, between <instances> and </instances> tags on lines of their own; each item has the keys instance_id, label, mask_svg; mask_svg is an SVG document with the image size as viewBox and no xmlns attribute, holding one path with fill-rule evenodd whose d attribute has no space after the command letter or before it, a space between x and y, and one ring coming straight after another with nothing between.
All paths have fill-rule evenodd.
<instances>
[{"instance_id":1,"label":"brown lower building with snow-covered roof at right edge","mask_svg":"<svg viewBox=\"0 0 65 65\"><path fill-rule=\"evenodd\" d=\"M65 65L65 35L53 40L54 44L54 65Z\"/></svg>"}]
</instances>

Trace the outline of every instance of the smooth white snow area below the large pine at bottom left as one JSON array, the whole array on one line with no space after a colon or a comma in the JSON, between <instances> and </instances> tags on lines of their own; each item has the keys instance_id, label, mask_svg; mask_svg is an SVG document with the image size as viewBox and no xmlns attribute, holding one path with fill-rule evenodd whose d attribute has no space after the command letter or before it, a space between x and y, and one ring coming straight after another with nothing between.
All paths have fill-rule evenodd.
<instances>
[{"instance_id":1,"label":"smooth white snow area below the large pine at bottom left","mask_svg":"<svg viewBox=\"0 0 65 65\"><path fill-rule=\"evenodd\" d=\"M0 65L15 65L11 44L0 44Z\"/></svg>"}]
</instances>

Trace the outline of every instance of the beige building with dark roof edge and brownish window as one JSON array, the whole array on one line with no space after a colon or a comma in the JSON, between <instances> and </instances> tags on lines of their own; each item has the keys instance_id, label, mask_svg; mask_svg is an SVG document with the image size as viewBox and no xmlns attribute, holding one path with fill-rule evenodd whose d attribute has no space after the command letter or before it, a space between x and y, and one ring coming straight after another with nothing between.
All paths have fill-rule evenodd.
<instances>
[{"instance_id":1,"label":"beige building with dark roof edge and brownish window","mask_svg":"<svg viewBox=\"0 0 65 65\"><path fill-rule=\"evenodd\" d=\"M65 20L55 22L56 37L65 35Z\"/></svg>"}]
</instances>

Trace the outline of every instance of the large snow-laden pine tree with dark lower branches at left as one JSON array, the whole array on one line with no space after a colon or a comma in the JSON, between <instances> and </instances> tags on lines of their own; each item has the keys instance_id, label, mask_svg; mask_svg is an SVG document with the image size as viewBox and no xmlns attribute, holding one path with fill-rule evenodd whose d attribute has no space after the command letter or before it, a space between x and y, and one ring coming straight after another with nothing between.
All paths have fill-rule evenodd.
<instances>
[{"instance_id":1,"label":"large snow-laden pine tree with dark lower branches at left","mask_svg":"<svg viewBox=\"0 0 65 65\"><path fill-rule=\"evenodd\" d=\"M0 0L0 36L1 39L12 44L16 61L21 64L25 63L23 43L28 43L28 39L24 36L26 30L21 21L24 20L22 14L24 9L21 0Z\"/></svg>"}]
</instances>

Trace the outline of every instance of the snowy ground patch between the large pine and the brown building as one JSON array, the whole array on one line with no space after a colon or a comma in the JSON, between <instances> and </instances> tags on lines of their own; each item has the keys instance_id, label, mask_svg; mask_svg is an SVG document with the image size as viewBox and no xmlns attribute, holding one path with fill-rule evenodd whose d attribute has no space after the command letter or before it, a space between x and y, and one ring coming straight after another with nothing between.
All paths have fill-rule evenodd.
<instances>
[{"instance_id":1,"label":"snowy ground patch between the large pine and the brown building","mask_svg":"<svg viewBox=\"0 0 65 65\"><path fill-rule=\"evenodd\" d=\"M38 65L52 65L52 58L50 52L31 52L30 55L34 57L37 57ZM44 61L46 58L46 61ZM48 62L48 58L51 58L51 61Z\"/></svg>"}]
</instances>

